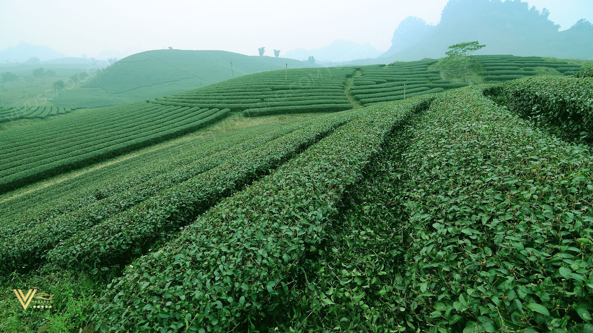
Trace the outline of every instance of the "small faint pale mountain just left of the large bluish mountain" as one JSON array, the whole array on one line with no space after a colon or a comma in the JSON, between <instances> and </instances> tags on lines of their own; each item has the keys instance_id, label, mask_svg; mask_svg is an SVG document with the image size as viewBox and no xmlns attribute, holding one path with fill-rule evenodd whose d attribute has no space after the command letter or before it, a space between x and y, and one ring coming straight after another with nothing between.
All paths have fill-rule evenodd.
<instances>
[{"instance_id":1,"label":"small faint pale mountain just left of the large bluish mountain","mask_svg":"<svg viewBox=\"0 0 593 333\"><path fill-rule=\"evenodd\" d=\"M334 40L331 44L315 50L296 49L286 52L283 56L297 60L315 57L315 62L347 62L352 59L377 57L380 52L371 44L359 44L348 40ZM280 53L282 55L282 53Z\"/></svg>"}]
</instances>

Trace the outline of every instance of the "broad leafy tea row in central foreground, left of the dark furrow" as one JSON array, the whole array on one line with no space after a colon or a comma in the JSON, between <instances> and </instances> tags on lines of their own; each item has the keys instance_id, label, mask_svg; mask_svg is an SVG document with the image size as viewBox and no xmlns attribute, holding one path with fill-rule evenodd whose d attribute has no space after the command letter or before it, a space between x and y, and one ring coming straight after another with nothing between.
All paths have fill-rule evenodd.
<instances>
[{"instance_id":1,"label":"broad leafy tea row in central foreground, left of the dark furrow","mask_svg":"<svg viewBox=\"0 0 593 333\"><path fill-rule=\"evenodd\" d=\"M109 285L104 331L245 331L290 305L307 255L393 130L429 99L365 109L269 177L228 198ZM133 295L133 296L132 296Z\"/></svg>"}]
</instances>

